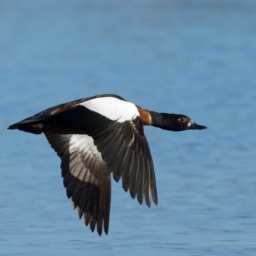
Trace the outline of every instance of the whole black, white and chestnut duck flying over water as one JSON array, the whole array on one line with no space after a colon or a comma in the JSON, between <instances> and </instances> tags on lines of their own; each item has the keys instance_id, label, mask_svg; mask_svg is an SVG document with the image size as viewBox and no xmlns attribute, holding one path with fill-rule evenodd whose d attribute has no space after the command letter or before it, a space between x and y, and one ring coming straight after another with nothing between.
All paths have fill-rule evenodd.
<instances>
[{"instance_id":1,"label":"whole black, white and chestnut duck flying over water","mask_svg":"<svg viewBox=\"0 0 256 256\"><path fill-rule=\"evenodd\" d=\"M72 207L92 232L108 234L111 173L132 198L157 205L154 165L143 125L168 131L202 130L188 116L140 108L104 94L60 104L8 129L41 134L61 158L61 175Z\"/></svg>"}]
</instances>

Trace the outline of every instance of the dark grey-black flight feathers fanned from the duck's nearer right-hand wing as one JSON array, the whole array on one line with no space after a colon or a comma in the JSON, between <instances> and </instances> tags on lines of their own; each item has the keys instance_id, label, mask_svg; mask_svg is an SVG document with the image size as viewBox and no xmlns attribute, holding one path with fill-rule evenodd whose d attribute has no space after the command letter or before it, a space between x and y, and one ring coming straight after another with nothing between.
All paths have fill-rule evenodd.
<instances>
[{"instance_id":1,"label":"dark grey-black flight feathers fanned from the duck's nearer right-hand wing","mask_svg":"<svg viewBox=\"0 0 256 256\"><path fill-rule=\"evenodd\" d=\"M124 190L130 190L132 198L137 195L140 204L145 197L146 204L150 206L151 194L154 203L157 204L156 178L142 126L139 117L125 121L105 135L111 138L108 143L100 137L94 143L101 152L102 159L107 163L109 172L113 172L114 179L118 181L122 177ZM138 186L141 186L140 189Z\"/></svg>"}]
</instances>

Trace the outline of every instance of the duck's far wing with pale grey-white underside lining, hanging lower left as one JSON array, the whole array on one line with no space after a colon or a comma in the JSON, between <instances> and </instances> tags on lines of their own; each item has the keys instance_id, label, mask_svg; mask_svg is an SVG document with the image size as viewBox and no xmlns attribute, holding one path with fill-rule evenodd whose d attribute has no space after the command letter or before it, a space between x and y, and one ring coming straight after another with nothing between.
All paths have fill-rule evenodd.
<instances>
[{"instance_id":1,"label":"duck's far wing with pale grey-white underside lining, hanging lower left","mask_svg":"<svg viewBox=\"0 0 256 256\"><path fill-rule=\"evenodd\" d=\"M45 132L51 147L61 158L61 175L67 188L68 198L77 207L79 218L84 215L84 223L90 223L92 232L102 234L102 226L108 234L111 200L110 174L99 153L95 154L92 138L80 134L51 134ZM102 179L92 174L105 173Z\"/></svg>"}]
</instances>

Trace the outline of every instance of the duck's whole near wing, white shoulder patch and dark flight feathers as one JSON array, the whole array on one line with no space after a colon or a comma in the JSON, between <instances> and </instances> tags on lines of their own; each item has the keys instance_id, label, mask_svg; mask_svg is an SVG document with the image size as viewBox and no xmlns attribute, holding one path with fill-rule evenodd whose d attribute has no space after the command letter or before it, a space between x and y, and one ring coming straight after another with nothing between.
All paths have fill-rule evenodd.
<instances>
[{"instance_id":1,"label":"duck's whole near wing, white shoulder patch and dark flight feathers","mask_svg":"<svg viewBox=\"0 0 256 256\"><path fill-rule=\"evenodd\" d=\"M140 113L134 104L113 97L90 99L68 108L55 109L51 122L62 124L62 127L63 124L69 125L76 133L92 138L96 151L109 170L107 173L90 168L97 179L108 177L113 172L114 179L118 181L122 177L124 190L129 189L132 198L137 195L140 204L144 196L150 207L151 195L157 204L152 156Z\"/></svg>"}]
</instances>

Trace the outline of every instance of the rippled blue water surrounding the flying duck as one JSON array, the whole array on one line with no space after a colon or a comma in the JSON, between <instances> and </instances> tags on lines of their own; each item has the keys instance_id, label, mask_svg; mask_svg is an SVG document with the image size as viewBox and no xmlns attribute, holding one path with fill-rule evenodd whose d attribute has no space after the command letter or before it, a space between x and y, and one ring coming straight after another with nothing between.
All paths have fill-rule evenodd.
<instances>
[{"instance_id":1,"label":"rippled blue water surrounding the flying duck","mask_svg":"<svg viewBox=\"0 0 256 256\"><path fill-rule=\"evenodd\" d=\"M256 255L256 1L0 1L0 255ZM44 136L8 125L116 93L203 131L145 127L159 205L112 182L77 219Z\"/></svg>"}]
</instances>

